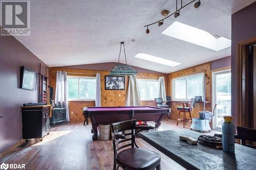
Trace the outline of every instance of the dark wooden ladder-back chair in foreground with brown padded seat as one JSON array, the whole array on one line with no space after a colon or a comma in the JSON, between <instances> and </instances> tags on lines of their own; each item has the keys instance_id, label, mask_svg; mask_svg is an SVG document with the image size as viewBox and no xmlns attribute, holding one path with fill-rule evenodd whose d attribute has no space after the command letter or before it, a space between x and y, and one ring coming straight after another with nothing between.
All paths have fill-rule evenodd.
<instances>
[{"instance_id":1,"label":"dark wooden ladder-back chair in foreground with brown padded seat","mask_svg":"<svg viewBox=\"0 0 256 170\"><path fill-rule=\"evenodd\" d=\"M136 126L136 120L127 120L124 122L111 124L112 129L112 138L113 138L113 148L114 148L114 170L117 170L119 167L123 169L141 169L141 170L160 170L161 157L158 153L140 149L136 144L135 137L138 132L142 130L154 129L152 126ZM120 134L119 132L131 130L131 133ZM136 133L135 133L135 130ZM120 147L117 147L118 144L121 144ZM136 146L137 148L135 148ZM120 149L122 150L117 153ZM131 148L130 148L131 147Z\"/></svg>"}]
</instances>

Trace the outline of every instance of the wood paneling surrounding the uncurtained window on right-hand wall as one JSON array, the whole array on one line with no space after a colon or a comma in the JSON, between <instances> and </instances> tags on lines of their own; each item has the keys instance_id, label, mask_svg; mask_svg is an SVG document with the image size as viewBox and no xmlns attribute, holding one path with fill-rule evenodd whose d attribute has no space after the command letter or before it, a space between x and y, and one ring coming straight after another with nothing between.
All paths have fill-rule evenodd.
<instances>
[{"instance_id":1,"label":"wood paneling surrounding the uncurtained window on right-hand wall","mask_svg":"<svg viewBox=\"0 0 256 170\"><path fill-rule=\"evenodd\" d=\"M194 67L186 68L183 70L179 70L176 72L172 72L168 74L167 76L167 95L170 95L171 97L173 92L172 92L172 79L181 77L181 76L187 76L191 74L196 74L199 72L205 71L206 74L206 101L209 101L210 104L206 104L206 111L211 111L211 70L210 70L210 62L204 63L201 65L197 65ZM172 98L173 99L173 98ZM172 108L172 114L170 115L171 119L177 120L178 118L178 112L177 112L177 107L182 106L179 104L179 102L171 102L171 108ZM203 111L203 103L196 103L192 114L192 117L199 117L199 111ZM187 114L188 115L188 114Z\"/></svg>"}]
</instances>

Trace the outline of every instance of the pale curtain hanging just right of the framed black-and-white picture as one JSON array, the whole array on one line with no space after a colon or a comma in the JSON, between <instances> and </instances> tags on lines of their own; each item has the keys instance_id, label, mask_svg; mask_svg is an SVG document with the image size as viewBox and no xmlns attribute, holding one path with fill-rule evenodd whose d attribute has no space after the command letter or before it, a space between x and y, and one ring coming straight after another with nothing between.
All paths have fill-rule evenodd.
<instances>
[{"instance_id":1,"label":"pale curtain hanging just right of the framed black-and-white picture","mask_svg":"<svg viewBox=\"0 0 256 170\"><path fill-rule=\"evenodd\" d=\"M135 75L129 78L125 106L140 106L139 84Z\"/></svg>"}]
</instances>

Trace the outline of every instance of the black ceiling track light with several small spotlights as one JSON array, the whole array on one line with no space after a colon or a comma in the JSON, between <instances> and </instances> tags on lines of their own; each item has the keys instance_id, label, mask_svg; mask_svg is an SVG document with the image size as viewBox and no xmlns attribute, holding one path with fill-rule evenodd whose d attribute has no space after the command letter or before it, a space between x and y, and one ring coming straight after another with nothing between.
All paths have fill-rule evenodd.
<instances>
[{"instance_id":1,"label":"black ceiling track light with several small spotlights","mask_svg":"<svg viewBox=\"0 0 256 170\"><path fill-rule=\"evenodd\" d=\"M170 17L170 16L172 16L172 15L174 15L175 18L177 18L178 16L180 16L180 10L183 9L183 8L185 8L185 7L188 6L189 4L194 3L195 1L198 1L198 2L195 3L194 7L195 7L195 8L199 8L200 5L201 5L201 1L200 1L200 0L190 0L190 2L187 3L186 5L183 5L183 4L182 4L183 1L184 1L184 0L180 0L180 5L179 5L180 8L178 9L178 0L176 0L176 11L173 12L172 14L169 14L169 11L167 11L167 10L163 10L163 11L161 12L161 14L162 14L162 16L165 16L165 18L163 18L163 19L161 19L161 20L159 20L159 21L150 23L150 24L148 24L148 25L145 25L144 27L146 27L146 33L147 33L147 34L150 33L150 30L148 30L148 26L151 26L151 25L154 25L154 24L158 23L158 26L160 27L160 26L163 25L163 20L164 20L164 19L167 19L168 17ZM169 14L169 15L168 15L168 14Z\"/></svg>"}]
</instances>

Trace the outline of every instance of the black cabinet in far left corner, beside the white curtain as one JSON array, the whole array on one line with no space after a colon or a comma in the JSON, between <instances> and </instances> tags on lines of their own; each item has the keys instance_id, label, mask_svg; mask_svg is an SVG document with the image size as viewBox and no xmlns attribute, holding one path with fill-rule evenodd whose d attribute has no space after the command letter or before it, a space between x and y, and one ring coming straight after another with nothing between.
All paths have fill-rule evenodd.
<instances>
[{"instance_id":1,"label":"black cabinet in far left corner, beside the white curtain","mask_svg":"<svg viewBox=\"0 0 256 170\"><path fill-rule=\"evenodd\" d=\"M66 108L53 108L52 109L52 117L50 118L50 123L53 125L57 123L67 123L67 117L66 117Z\"/></svg>"}]
</instances>

